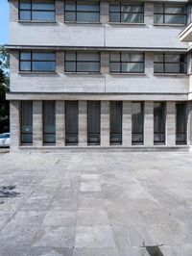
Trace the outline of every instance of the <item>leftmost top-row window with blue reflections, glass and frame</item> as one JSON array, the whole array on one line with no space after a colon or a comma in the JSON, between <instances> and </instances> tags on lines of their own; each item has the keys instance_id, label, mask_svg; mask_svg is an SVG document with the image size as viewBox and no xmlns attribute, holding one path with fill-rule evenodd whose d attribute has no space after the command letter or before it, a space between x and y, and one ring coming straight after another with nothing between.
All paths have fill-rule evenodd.
<instances>
[{"instance_id":1,"label":"leftmost top-row window with blue reflections, glass and frame","mask_svg":"<svg viewBox=\"0 0 192 256\"><path fill-rule=\"evenodd\" d=\"M55 21L55 0L19 0L19 20Z\"/></svg>"}]
</instances>

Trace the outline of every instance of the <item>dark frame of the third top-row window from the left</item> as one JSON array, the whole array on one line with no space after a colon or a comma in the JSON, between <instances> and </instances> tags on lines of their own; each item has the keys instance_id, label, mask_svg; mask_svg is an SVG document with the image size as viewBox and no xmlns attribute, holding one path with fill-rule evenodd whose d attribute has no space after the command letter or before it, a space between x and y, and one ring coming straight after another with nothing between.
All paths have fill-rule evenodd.
<instances>
[{"instance_id":1,"label":"dark frame of the third top-row window from the left","mask_svg":"<svg viewBox=\"0 0 192 256\"><path fill-rule=\"evenodd\" d=\"M112 4L119 4L119 6L120 6L120 11L119 12L117 12L117 11L111 11L110 10L110 6L112 5ZM141 6L142 7L142 10L143 10L143 12L123 12L123 11L121 11L122 9L122 5L124 5L124 4L129 4L130 6L135 6L135 5L139 5L139 6ZM110 19L110 13L118 13L119 15L120 15L120 21L111 21L111 19ZM115 2L112 2L112 3L110 3L109 4L109 22L114 22L114 23L128 23L128 24L132 24L132 23L135 23L135 22L126 22L126 21L122 21L122 13L127 13L127 14L142 14L142 22L136 22L136 24L143 24L144 23L144 13L145 13L145 5L144 5L144 3L139 3L139 2L136 2L136 3L132 3L132 2L128 2L128 3L126 3L126 2L120 2L120 3L115 3Z\"/></svg>"}]
</instances>

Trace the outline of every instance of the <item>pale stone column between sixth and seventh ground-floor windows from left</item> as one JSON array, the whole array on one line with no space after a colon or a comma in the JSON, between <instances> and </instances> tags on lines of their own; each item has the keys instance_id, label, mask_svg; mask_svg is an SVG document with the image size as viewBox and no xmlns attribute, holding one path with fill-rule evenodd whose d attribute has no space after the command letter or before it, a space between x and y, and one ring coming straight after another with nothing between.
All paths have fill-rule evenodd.
<instances>
[{"instance_id":1,"label":"pale stone column between sixth and seventh ground-floor windows from left","mask_svg":"<svg viewBox=\"0 0 192 256\"><path fill-rule=\"evenodd\" d=\"M154 145L154 102L145 102L144 111L144 145Z\"/></svg>"}]
</instances>

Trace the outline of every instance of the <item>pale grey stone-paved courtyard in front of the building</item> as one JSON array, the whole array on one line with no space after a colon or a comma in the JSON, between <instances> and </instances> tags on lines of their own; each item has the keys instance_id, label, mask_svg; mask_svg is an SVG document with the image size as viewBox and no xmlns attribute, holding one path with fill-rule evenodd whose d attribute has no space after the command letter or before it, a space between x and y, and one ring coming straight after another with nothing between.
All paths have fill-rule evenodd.
<instances>
[{"instance_id":1,"label":"pale grey stone-paved courtyard in front of the building","mask_svg":"<svg viewBox=\"0 0 192 256\"><path fill-rule=\"evenodd\" d=\"M191 256L192 153L1 153L0 255Z\"/></svg>"}]
</instances>

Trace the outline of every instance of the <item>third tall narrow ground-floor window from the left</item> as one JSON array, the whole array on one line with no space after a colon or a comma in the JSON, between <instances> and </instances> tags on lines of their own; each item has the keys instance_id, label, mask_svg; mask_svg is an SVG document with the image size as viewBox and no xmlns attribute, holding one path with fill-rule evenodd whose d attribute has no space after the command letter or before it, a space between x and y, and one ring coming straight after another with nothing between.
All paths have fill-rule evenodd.
<instances>
[{"instance_id":1,"label":"third tall narrow ground-floor window from the left","mask_svg":"<svg viewBox=\"0 0 192 256\"><path fill-rule=\"evenodd\" d=\"M66 145L78 144L78 101L65 102L65 143Z\"/></svg>"}]
</instances>

